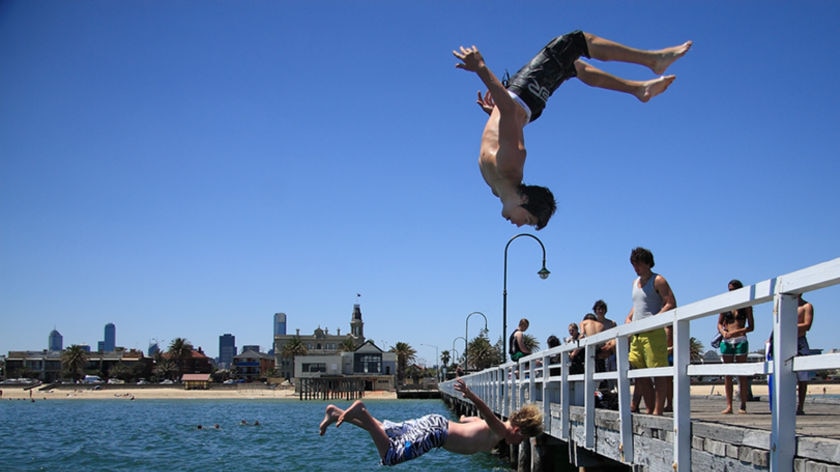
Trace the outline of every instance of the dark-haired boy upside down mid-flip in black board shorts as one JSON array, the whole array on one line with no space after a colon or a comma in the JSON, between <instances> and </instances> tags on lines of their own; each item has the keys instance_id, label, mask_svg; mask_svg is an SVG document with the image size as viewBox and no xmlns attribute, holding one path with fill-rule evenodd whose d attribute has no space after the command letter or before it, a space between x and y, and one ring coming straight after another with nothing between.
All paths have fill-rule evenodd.
<instances>
[{"instance_id":1,"label":"dark-haired boy upside down mid-flip in black board shorts","mask_svg":"<svg viewBox=\"0 0 840 472\"><path fill-rule=\"evenodd\" d=\"M661 75L685 55L692 42L659 50L641 50L582 31L551 40L531 62L505 85L493 74L475 46L452 51L462 62L458 69L475 72L487 93L478 93L478 105L490 115L481 136L478 166L493 195L502 203L502 217L516 226L540 230L554 214L554 195L545 187L522 183L525 167L525 125L542 114L548 97L566 79L579 78L586 85L633 95L641 102L664 92L676 76L636 81L608 74L581 61L581 56L601 61L639 64Z\"/></svg>"}]
</instances>

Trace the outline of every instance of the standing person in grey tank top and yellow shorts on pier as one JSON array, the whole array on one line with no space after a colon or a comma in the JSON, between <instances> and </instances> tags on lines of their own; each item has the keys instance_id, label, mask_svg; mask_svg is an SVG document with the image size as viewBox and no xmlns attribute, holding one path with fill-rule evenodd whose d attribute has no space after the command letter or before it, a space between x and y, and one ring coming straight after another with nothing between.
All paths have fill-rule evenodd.
<instances>
[{"instance_id":1,"label":"standing person in grey tank top and yellow shorts on pier","mask_svg":"<svg viewBox=\"0 0 840 472\"><path fill-rule=\"evenodd\" d=\"M637 247L630 253L630 264L636 271L633 281L633 308L627 314L626 323L641 320L659 313L672 310L677 306L674 292L665 277L654 273L653 253L643 247ZM654 329L638 333L630 341L630 353L627 360L635 369L668 367L668 337L671 327ZM656 377L653 382L649 378L639 377L633 389L633 401L630 409L638 412L639 401L644 398L648 414L662 415L665 408L665 398L671 389L670 377Z\"/></svg>"}]
</instances>

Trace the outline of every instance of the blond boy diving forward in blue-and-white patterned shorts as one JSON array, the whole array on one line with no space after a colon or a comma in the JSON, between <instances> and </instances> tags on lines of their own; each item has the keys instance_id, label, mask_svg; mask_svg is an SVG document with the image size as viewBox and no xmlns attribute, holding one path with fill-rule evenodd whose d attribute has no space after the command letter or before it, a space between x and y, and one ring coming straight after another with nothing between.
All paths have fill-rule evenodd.
<instances>
[{"instance_id":1,"label":"blond boy diving forward in blue-and-white patterned shorts","mask_svg":"<svg viewBox=\"0 0 840 472\"><path fill-rule=\"evenodd\" d=\"M457 454L489 452L501 440L515 445L543 431L542 413L536 405L525 405L511 413L507 421L502 421L461 378L456 379L455 390L470 400L485 419L461 416L460 421L452 421L431 414L402 423L380 422L361 400L356 400L346 410L328 405L320 434L323 436L333 423L336 427L344 422L358 426L370 434L382 465L396 465L438 447Z\"/></svg>"}]
</instances>

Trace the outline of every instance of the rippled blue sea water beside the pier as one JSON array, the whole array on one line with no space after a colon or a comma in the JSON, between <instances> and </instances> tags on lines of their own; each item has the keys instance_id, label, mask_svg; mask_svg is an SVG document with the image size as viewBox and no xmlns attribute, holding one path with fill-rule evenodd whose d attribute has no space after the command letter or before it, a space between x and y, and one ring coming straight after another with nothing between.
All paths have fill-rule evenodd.
<instances>
[{"instance_id":1,"label":"rippled blue sea water beside the pier","mask_svg":"<svg viewBox=\"0 0 840 472\"><path fill-rule=\"evenodd\" d=\"M335 403L344 408L350 402ZM428 413L454 418L440 400L367 403L380 420ZM0 470L384 470L367 432L346 424L318 435L326 405L265 399L2 400ZM261 424L241 426L243 419ZM199 424L203 429L196 428ZM489 454L462 456L442 449L395 470L509 472Z\"/></svg>"}]
</instances>

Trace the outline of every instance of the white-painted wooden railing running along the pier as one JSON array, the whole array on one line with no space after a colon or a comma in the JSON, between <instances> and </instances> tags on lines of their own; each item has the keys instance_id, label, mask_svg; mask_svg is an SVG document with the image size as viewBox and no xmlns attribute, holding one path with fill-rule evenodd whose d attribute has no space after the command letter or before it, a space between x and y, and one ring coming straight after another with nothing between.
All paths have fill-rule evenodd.
<instances>
[{"instance_id":1,"label":"white-painted wooden railing running along the pier","mask_svg":"<svg viewBox=\"0 0 840 472\"><path fill-rule=\"evenodd\" d=\"M691 428L690 428L690 378L701 375L754 375L774 374L772 408L772 431L770 435L770 470L790 470L795 454L795 409L789 407L795 401L796 372L840 368L840 354L829 353L796 357L796 308L797 296L805 292L840 285L840 258L817 264L805 269L764 280L738 290L678 306L657 316L618 325L601 333L587 336L576 343L560 346L527 355L518 363L505 364L485 369L464 377L467 384L477 392L501 417L524 404L526 396L542 403L546 431L552 431L551 401L548 392L559 389L560 396L560 439L568 440L569 406L581 405L585 410L585 441L580 446L593 448L595 441L595 385L600 380L616 380L618 383L619 421L622 460L634 463L632 422L630 414L630 382L637 377L674 377L674 470L691 470ZM773 302L772 361L752 363L730 363L701 365L690 363L689 340L690 321L747 306ZM674 366L629 369L627 353L629 338L637 333L656 328L672 326ZM595 373L594 347L615 339L617 370ZM569 354L578 348L585 349L584 373L571 375L568 369ZM551 358L559 356L559 363ZM792 361L791 361L792 360ZM560 375L548 375L552 369L560 368ZM572 398L573 384L583 383L583 394ZM457 397L453 381L440 385L442 392ZM539 385L538 385L539 384ZM541 389L540 389L541 387ZM576 387L577 389L577 387ZM527 390L527 395L526 395ZM555 403L556 404L556 403Z\"/></svg>"}]
</instances>

